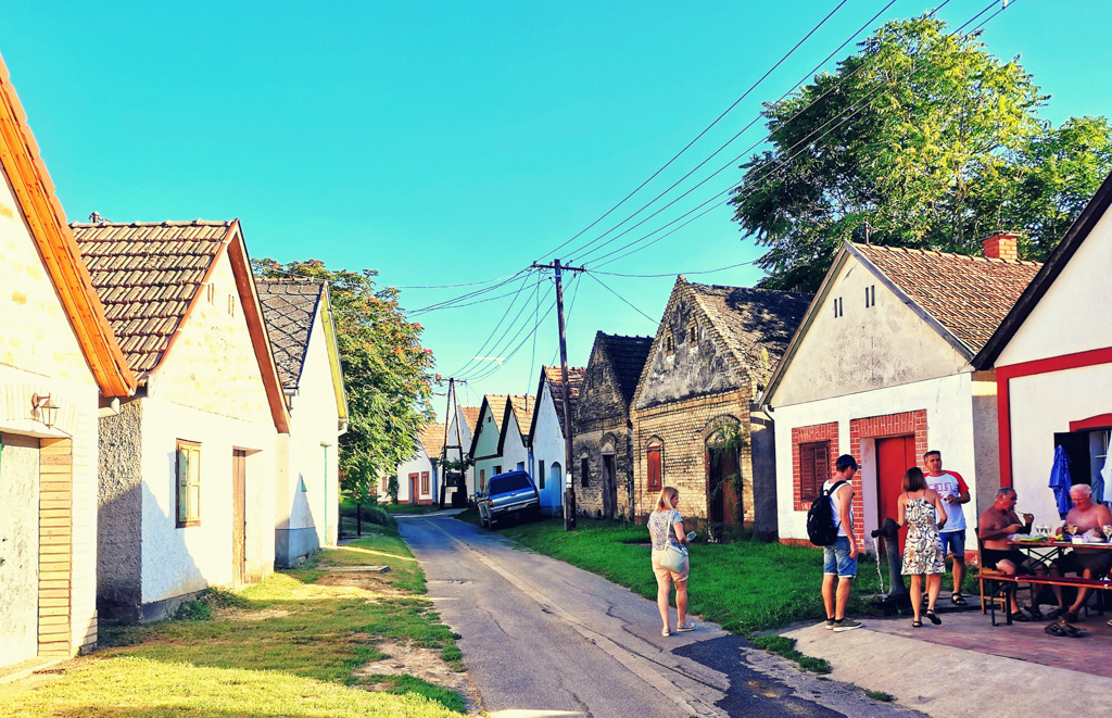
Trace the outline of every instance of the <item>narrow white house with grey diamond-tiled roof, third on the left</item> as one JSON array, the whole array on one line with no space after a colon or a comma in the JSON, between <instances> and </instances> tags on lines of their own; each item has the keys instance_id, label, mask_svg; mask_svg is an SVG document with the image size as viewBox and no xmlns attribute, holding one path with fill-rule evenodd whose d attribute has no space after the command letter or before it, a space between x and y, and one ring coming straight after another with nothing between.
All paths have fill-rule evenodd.
<instances>
[{"instance_id":1,"label":"narrow white house with grey diamond-tiled roof, third on the left","mask_svg":"<svg viewBox=\"0 0 1112 718\"><path fill-rule=\"evenodd\" d=\"M327 282L256 286L290 417L289 433L278 435L275 479L275 564L287 567L336 546L347 397Z\"/></svg>"}]
</instances>

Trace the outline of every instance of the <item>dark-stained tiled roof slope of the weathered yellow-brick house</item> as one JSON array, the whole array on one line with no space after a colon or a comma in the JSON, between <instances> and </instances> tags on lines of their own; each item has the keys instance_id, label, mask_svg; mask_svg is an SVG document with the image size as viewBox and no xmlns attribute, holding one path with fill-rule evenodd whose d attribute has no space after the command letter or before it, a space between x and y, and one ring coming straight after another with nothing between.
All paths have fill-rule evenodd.
<instances>
[{"instance_id":1,"label":"dark-stained tiled roof slope of the weathered yellow-brick house","mask_svg":"<svg viewBox=\"0 0 1112 718\"><path fill-rule=\"evenodd\" d=\"M688 285L734 356L749 370L776 366L807 311L805 292ZM762 348L767 360L761 356Z\"/></svg>"}]
</instances>

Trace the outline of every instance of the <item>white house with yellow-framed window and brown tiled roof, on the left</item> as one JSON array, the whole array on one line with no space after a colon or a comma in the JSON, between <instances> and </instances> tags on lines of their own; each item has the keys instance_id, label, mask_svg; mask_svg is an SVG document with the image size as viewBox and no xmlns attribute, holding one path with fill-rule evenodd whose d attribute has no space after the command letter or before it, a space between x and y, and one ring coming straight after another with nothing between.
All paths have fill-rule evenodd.
<instances>
[{"instance_id":1,"label":"white house with yellow-framed window and brown tiled roof, on the left","mask_svg":"<svg viewBox=\"0 0 1112 718\"><path fill-rule=\"evenodd\" d=\"M274 570L289 413L238 220L71 228L140 387L100 419L98 606L153 620Z\"/></svg>"}]
</instances>

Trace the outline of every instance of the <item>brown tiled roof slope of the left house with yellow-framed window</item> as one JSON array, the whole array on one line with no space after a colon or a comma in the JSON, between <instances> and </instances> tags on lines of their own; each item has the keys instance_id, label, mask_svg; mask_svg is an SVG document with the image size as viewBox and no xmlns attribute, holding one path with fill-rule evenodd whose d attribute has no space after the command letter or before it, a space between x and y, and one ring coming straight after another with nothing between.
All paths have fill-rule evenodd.
<instances>
[{"instance_id":1,"label":"brown tiled roof slope of the left house with yellow-framed window","mask_svg":"<svg viewBox=\"0 0 1112 718\"><path fill-rule=\"evenodd\" d=\"M70 225L128 365L158 366L234 222Z\"/></svg>"}]
</instances>

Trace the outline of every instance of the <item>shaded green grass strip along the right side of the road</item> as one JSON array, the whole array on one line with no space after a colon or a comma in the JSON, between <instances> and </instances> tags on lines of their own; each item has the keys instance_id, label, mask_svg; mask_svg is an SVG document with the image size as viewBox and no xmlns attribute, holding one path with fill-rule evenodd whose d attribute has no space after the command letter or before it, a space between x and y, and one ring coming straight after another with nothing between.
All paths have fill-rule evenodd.
<instances>
[{"instance_id":1,"label":"shaded green grass strip along the right side of the road","mask_svg":"<svg viewBox=\"0 0 1112 718\"><path fill-rule=\"evenodd\" d=\"M562 520L550 519L508 527L499 533L645 598L656 598L648 530L644 526L580 518L578 528L566 532ZM754 540L696 544L691 547L691 566L688 610L726 630L753 635L798 620L825 618L818 595L818 549ZM877 589L876 565L863 557L848 611L866 612L860 596Z\"/></svg>"}]
</instances>

